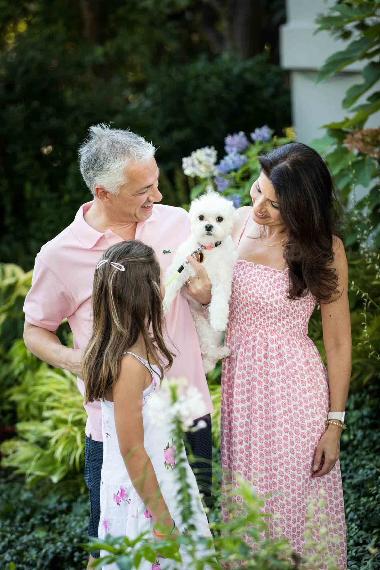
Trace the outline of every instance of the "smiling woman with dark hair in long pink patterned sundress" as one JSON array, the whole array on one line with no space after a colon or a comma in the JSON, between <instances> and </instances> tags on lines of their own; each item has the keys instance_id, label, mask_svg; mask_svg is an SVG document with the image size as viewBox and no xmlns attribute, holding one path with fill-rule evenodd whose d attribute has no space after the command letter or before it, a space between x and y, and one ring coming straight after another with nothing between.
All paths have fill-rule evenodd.
<instances>
[{"instance_id":1,"label":"smiling woman with dark hair in long pink patterned sundress","mask_svg":"<svg viewBox=\"0 0 380 570\"><path fill-rule=\"evenodd\" d=\"M223 488L237 487L238 477L252 481L265 497L265 512L280 517L269 520L270 536L278 536L280 526L300 555L306 553L308 504L316 502L316 528L335 525L329 527L328 553L338 550L335 562L345 569L338 458L347 422L351 331L333 181L320 155L301 143L259 160L252 207L238 210L235 231L238 261L226 333L231 355L222 374ZM307 336L316 303L327 370ZM229 500L243 502L237 489ZM227 520L225 496L222 511ZM320 541L318 530L313 538Z\"/></svg>"}]
</instances>

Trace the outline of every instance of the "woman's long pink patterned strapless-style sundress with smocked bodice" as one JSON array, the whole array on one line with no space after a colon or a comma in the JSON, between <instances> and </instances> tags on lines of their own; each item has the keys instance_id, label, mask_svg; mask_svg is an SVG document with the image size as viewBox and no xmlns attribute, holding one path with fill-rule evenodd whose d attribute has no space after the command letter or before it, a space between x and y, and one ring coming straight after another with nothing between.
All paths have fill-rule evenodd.
<instances>
[{"instance_id":1,"label":"woman's long pink patterned strapless-style sundress with smocked bodice","mask_svg":"<svg viewBox=\"0 0 380 570\"><path fill-rule=\"evenodd\" d=\"M316 299L308 292L289 300L288 287L286 271L245 260L235 265L225 337L231 355L222 368L222 519L229 517L227 500L243 503L238 489L227 499L227 488L237 487L237 478L252 482L265 498L265 512L280 515L268 520L270 537L278 536L275 528L280 527L280 536L305 555L308 503L324 496L324 507L317 507L314 521L318 528L325 527L321 515L327 515L334 524L328 534L337 541L328 543L328 553L345 570L339 461L324 477L312 478L329 412L327 372L308 337ZM313 536L319 541L318 531Z\"/></svg>"}]
</instances>

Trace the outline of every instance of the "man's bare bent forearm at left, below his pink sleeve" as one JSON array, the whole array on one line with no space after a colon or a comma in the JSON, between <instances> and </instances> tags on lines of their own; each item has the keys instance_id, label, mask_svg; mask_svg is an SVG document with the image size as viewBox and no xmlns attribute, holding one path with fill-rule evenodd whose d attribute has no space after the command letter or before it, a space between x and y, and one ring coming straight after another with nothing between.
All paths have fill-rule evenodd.
<instances>
[{"instance_id":1,"label":"man's bare bent forearm at left, below his pink sleeve","mask_svg":"<svg viewBox=\"0 0 380 570\"><path fill-rule=\"evenodd\" d=\"M40 360L81 376L82 351L64 347L54 332L25 321L24 342L26 348Z\"/></svg>"}]
</instances>

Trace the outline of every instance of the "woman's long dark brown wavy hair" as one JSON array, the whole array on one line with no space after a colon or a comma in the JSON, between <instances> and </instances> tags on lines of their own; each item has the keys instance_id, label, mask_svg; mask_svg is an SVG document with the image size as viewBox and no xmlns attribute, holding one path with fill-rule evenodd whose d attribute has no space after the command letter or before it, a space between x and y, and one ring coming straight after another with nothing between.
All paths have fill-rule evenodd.
<instances>
[{"instance_id":1,"label":"woman's long dark brown wavy hair","mask_svg":"<svg viewBox=\"0 0 380 570\"><path fill-rule=\"evenodd\" d=\"M316 150L302 143L280 146L258 157L289 229L284 258L289 267L289 299L310 291L322 302L338 293L333 237L341 237L340 209L332 176Z\"/></svg>"}]
</instances>

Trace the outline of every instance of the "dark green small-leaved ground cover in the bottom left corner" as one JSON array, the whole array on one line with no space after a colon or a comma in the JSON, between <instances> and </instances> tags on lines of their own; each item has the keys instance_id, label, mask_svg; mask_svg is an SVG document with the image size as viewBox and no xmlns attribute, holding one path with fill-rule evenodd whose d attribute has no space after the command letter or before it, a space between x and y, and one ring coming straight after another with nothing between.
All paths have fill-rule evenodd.
<instances>
[{"instance_id":1,"label":"dark green small-leaved ground cover in the bottom left corner","mask_svg":"<svg viewBox=\"0 0 380 570\"><path fill-rule=\"evenodd\" d=\"M88 496L58 494L51 485L25 487L23 478L0 470L2 570L79 570L88 559Z\"/></svg>"}]
</instances>

